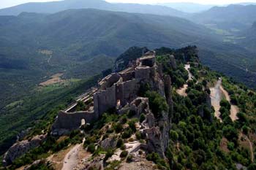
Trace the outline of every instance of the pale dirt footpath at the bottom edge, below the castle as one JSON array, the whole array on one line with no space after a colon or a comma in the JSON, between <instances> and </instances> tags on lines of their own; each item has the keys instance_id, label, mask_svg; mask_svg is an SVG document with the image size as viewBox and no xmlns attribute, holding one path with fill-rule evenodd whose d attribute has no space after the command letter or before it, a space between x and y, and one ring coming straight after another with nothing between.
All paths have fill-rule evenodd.
<instances>
[{"instance_id":1,"label":"pale dirt footpath at the bottom edge, below the castle","mask_svg":"<svg viewBox=\"0 0 256 170\"><path fill-rule=\"evenodd\" d=\"M76 144L75 147L70 150L64 158L62 170L72 170L78 165L79 157L78 152L82 147L82 144Z\"/></svg>"}]
</instances>

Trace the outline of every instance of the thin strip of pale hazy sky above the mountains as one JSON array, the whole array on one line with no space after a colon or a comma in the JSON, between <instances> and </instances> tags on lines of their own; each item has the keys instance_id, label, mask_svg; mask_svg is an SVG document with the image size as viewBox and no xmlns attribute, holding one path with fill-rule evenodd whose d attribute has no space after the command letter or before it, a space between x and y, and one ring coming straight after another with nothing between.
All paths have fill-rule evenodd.
<instances>
[{"instance_id":1,"label":"thin strip of pale hazy sky above the mountains","mask_svg":"<svg viewBox=\"0 0 256 170\"><path fill-rule=\"evenodd\" d=\"M23 4L26 2L31 1L59 1L59 0L0 0L0 8L4 7L12 7L17 4ZM91 0L94 1L94 0ZM240 2L256 2L256 0L107 0L110 2L132 2L132 3L140 3L140 4L154 4L154 3L161 3L161 2L195 2L200 4L234 4Z\"/></svg>"}]
</instances>

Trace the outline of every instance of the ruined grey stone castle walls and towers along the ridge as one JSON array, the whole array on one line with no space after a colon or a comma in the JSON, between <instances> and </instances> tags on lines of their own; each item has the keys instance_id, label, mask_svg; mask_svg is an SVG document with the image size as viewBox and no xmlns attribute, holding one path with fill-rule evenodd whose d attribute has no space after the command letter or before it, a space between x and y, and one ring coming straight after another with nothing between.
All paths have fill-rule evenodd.
<instances>
[{"instance_id":1,"label":"ruined grey stone castle walls and towers along the ridge","mask_svg":"<svg viewBox=\"0 0 256 170\"><path fill-rule=\"evenodd\" d=\"M52 134L57 136L67 134L80 128L82 122L93 123L108 109L116 108L117 111L124 111L122 108L129 103L132 104L132 101L138 97L140 85L143 83L149 83L165 96L163 78L156 80L156 75L159 77L161 74L158 70L155 52L151 51L138 58L124 71L108 75L99 82L97 90L91 91L83 99L88 106L85 111L76 112L74 104L69 109L59 112L53 124Z\"/></svg>"}]
</instances>

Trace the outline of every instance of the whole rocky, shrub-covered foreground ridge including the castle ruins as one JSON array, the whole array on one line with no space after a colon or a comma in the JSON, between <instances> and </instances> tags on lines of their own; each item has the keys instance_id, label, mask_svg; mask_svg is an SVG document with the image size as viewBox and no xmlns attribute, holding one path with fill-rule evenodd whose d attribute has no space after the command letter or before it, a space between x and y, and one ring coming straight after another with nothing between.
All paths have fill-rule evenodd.
<instances>
[{"instance_id":1,"label":"whole rocky, shrub-covered foreground ridge including the castle ruins","mask_svg":"<svg viewBox=\"0 0 256 170\"><path fill-rule=\"evenodd\" d=\"M255 90L203 66L195 46L144 50L71 105L54 101L1 169L255 170Z\"/></svg>"}]
</instances>

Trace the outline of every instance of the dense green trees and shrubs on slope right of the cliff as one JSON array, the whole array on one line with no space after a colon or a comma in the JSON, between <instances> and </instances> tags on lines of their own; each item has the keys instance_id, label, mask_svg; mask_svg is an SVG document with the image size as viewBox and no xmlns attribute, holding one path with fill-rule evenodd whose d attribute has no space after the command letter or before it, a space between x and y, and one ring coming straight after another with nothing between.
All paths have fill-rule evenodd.
<instances>
[{"instance_id":1,"label":"dense green trees and shrubs on slope right of the cliff","mask_svg":"<svg viewBox=\"0 0 256 170\"><path fill-rule=\"evenodd\" d=\"M162 50L163 51L163 50ZM165 52L167 49L164 50ZM167 53L173 53L169 50ZM165 57L158 58L159 63L166 63ZM178 60L178 58L176 58ZM191 58L190 58L191 60ZM194 58L194 61L195 58ZM178 63L178 61L176 61ZM180 59L182 62L182 59ZM251 161L249 145L244 145L239 139L241 132L253 141L252 129L255 129L255 93L244 85L239 85L221 74L211 72L200 64L190 63L195 80L189 81L187 96L178 96L173 91L174 111L170 143L166 151L170 169L236 169L236 163L254 167ZM165 68L165 67L164 67ZM168 68L168 67L167 67ZM170 68L170 67L169 67ZM165 69L167 70L167 69ZM165 72L167 74L168 72ZM239 120L230 119L230 104L222 100L220 112L223 123L214 117L213 109L208 105L208 85L214 86L218 77L223 77L223 86L233 96L232 103L238 104ZM172 80L176 86L176 80ZM241 104L239 103L241 102ZM251 120L252 119L252 120ZM227 150L221 145L222 139L227 139ZM252 152L255 152L255 147ZM159 156L151 153L147 159L158 166L165 166L159 161Z\"/></svg>"}]
</instances>

